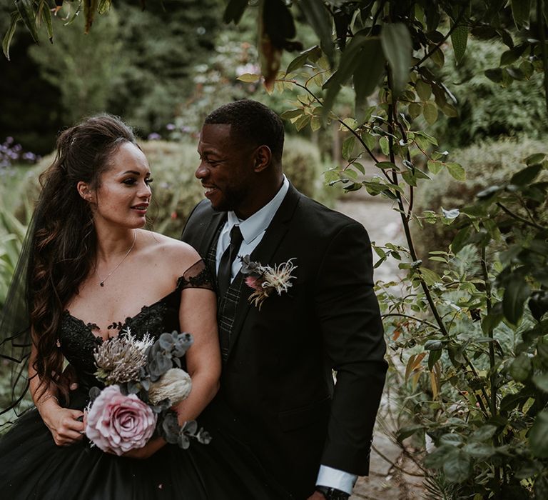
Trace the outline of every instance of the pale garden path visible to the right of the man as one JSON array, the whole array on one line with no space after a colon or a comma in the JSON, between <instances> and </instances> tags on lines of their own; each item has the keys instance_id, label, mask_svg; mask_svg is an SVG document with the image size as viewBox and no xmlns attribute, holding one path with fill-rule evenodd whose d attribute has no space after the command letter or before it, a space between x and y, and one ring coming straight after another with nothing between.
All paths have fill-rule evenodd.
<instances>
[{"instance_id":1,"label":"pale garden path visible to the right of the man","mask_svg":"<svg viewBox=\"0 0 548 500\"><path fill-rule=\"evenodd\" d=\"M360 221L370 235L371 241L384 245L388 241L405 244L400 214L392 209L392 203L380 196L370 196L365 189L342 196L336 209ZM373 260L377 260L373 254ZM375 281L397 280L400 270L397 262L387 259L375 269ZM390 398L389 386L385 387L381 407L377 416L375 440L371 454L370 474L358 478L350 500L407 500L422 499L422 476L420 469L408 458L401 447L395 444L395 426L391 423L394 402ZM412 474L406 474L406 472Z\"/></svg>"}]
</instances>

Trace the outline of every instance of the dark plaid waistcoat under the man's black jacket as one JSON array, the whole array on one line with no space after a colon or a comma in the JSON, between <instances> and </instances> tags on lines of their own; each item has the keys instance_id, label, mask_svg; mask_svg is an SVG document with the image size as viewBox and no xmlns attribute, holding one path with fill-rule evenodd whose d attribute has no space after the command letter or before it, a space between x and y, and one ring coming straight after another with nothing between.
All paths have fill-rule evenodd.
<instances>
[{"instance_id":1,"label":"dark plaid waistcoat under the man's black jacket","mask_svg":"<svg viewBox=\"0 0 548 500\"><path fill-rule=\"evenodd\" d=\"M223 224L220 225L215 238L208 251L206 257L209 269L216 269L217 261L217 243L220 236L220 231L223 230ZM215 289L217 289L217 273L215 276ZM223 363L228 359L228 351L230 349L230 337L234 326L236 306L240 300L242 291L243 276L241 273L236 274L236 277L228 287L224 297L217 296L217 324L219 329L220 354L223 358Z\"/></svg>"}]
</instances>

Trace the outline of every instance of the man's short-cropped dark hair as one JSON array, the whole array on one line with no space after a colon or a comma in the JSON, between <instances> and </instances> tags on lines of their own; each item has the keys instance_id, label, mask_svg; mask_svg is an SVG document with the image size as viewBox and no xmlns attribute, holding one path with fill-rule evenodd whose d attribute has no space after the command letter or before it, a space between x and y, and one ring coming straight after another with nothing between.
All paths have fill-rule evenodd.
<instances>
[{"instance_id":1,"label":"man's short-cropped dark hair","mask_svg":"<svg viewBox=\"0 0 548 500\"><path fill-rule=\"evenodd\" d=\"M230 132L246 143L265 144L276 161L283 152L283 123L280 116L260 102L250 99L224 104L211 111L204 125L230 125Z\"/></svg>"}]
</instances>

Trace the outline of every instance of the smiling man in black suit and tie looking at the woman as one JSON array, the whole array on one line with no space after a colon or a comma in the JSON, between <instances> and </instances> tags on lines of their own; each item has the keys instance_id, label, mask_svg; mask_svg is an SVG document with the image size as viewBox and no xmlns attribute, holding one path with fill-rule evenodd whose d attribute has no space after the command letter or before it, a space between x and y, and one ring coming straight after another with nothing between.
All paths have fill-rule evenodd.
<instances>
[{"instance_id":1,"label":"smiling man in black suit and tie looking at the woman","mask_svg":"<svg viewBox=\"0 0 548 500\"><path fill-rule=\"evenodd\" d=\"M217 399L293 499L347 499L356 476L368 472L387 369L370 242L361 224L290 184L283 140L282 121L263 104L213 111L196 170L207 200L182 239L216 277ZM254 290L239 256L263 266L291 260L290 286L250 304Z\"/></svg>"}]
</instances>

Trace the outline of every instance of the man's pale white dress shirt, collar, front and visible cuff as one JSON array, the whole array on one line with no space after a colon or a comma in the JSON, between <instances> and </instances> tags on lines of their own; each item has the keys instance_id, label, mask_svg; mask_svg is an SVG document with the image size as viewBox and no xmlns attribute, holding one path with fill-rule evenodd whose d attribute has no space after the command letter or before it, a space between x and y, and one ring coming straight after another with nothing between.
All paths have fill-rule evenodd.
<instances>
[{"instance_id":1,"label":"man's pale white dress shirt, collar, front and visible cuff","mask_svg":"<svg viewBox=\"0 0 548 500\"><path fill-rule=\"evenodd\" d=\"M244 221L238 219L238 216L236 216L233 211L228 212L228 219L226 220L223 229L221 229L219 239L217 241L217 272L219 271L220 258L230 245L230 231L233 226L240 226L240 231L243 236L243 241L240 245L238 256L250 255L251 252L257 248L258 244L263 239L263 236L265 236L266 229L270 226L270 222L272 222L272 219L280 208L285 195L288 193L288 189L289 181L287 177L283 176L283 184L274 198L271 199L268 204L263 206L262 209L256 211L255 214L249 216ZM230 282L233 281L241 267L242 263L240 259L234 259L231 269L232 273L230 275ZM350 494L356 478L357 476L354 474L349 474L348 472L322 465L320 466L316 484L319 486L328 486L330 488L340 489L341 491L346 491Z\"/></svg>"}]
</instances>

